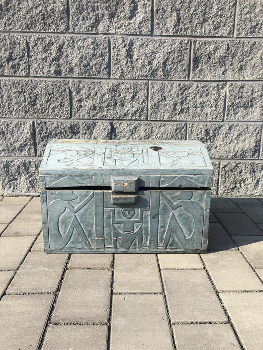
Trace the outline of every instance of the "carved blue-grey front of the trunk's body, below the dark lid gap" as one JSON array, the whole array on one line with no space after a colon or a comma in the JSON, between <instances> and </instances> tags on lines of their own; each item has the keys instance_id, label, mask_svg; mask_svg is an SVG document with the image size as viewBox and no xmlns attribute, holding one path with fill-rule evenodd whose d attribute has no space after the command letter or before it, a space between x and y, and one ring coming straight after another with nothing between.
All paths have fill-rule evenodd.
<instances>
[{"instance_id":1,"label":"carved blue-grey front of the trunk's body, below the dark lid gap","mask_svg":"<svg viewBox=\"0 0 263 350\"><path fill-rule=\"evenodd\" d=\"M207 195L149 190L139 192L136 205L116 206L110 191L43 191L45 248L72 253L205 250Z\"/></svg>"}]
</instances>

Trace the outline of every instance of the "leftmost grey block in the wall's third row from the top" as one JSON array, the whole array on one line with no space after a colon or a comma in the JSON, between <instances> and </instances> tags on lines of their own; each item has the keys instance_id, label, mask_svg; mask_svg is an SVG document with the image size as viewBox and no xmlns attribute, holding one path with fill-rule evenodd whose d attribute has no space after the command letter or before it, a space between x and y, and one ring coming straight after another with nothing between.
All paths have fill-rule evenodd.
<instances>
[{"instance_id":1,"label":"leftmost grey block in the wall's third row from the top","mask_svg":"<svg viewBox=\"0 0 263 350\"><path fill-rule=\"evenodd\" d=\"M0 80L0 118L69 117L69 84L67 81Z\"/></svg>"}]
</instances>

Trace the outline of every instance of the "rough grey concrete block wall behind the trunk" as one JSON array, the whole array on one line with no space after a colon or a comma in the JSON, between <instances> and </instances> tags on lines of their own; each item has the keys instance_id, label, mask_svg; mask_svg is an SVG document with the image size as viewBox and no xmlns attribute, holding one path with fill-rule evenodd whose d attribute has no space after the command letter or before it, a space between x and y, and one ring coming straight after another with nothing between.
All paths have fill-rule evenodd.
<instances>
[{"instance_id":1,"label":"rough grey concrete block wall behind the trunk","mask_svg":"<svg viewBox=\"0 0 263 350\"><path fill-rule=\"evenodd\" d=\"M0 4L0 188L53 138L197 139L214 196L263 195L263 0Z\"/></svg>"}]
</instances>

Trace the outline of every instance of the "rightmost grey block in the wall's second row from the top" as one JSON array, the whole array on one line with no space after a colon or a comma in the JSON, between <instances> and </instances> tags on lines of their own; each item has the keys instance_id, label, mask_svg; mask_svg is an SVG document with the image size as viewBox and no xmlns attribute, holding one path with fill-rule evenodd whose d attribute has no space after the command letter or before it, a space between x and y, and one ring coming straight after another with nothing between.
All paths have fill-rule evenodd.
<instances>
[{"instance_id":1,"label":"rightmost grey block in the wall's second row from the top","mask_svg":"<svg viewBox=\"0 0 263 350\"><path fill-rule=\"evenodd\" d=\"M262 79L262 48L258 40L195 40L192 79Z\"/></svg>"}]
</instances>

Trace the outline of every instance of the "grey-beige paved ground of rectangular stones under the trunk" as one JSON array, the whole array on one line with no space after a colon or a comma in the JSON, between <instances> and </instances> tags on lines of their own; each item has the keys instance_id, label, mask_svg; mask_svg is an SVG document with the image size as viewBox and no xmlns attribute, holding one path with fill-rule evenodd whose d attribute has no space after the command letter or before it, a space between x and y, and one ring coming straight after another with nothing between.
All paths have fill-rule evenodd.
<instances>
[{"instance_id":1,"label":"grey-beige paved ground of rectangular stones under the trunk","mask_svg":"<svg viewBox=\"0 0 263 350\"><path fill-rule=\"evenodd\" d=\"M0 198L0 295L2 350L262 350L263 200L214 199L207 254L68 256Z\"/></svg>"}]
</instances>

